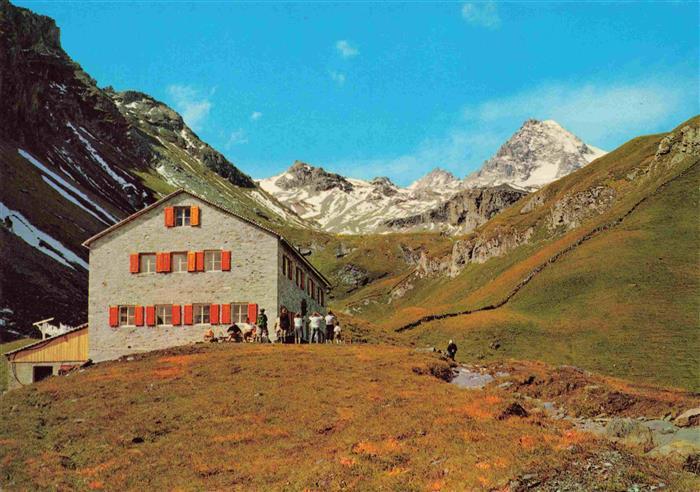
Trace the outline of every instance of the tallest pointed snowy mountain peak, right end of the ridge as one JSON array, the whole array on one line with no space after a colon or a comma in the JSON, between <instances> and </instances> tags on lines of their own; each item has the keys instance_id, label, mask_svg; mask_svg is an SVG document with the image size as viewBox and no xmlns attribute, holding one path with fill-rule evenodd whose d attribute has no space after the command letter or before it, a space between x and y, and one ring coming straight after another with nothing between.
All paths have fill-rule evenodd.
<instances>
[{"instance_id":1,"label":"tallest pointed snowy mountain peak, right end of the ridge","mask_svg":"<svg viewBox=\"0 0 700 492\"><path fill-rule=\"evenodd\" d=\"M465 184L470 188L510 184L535 189L604 154L554 120L528 119Z\"/></svg>"}]
</instances>

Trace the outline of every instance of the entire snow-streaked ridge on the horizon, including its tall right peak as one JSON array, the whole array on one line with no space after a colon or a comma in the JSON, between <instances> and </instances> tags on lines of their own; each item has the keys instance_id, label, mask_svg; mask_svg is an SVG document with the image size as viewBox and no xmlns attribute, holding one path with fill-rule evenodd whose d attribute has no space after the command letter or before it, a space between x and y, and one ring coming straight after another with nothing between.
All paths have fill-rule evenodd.
<instances>
[{"instance_id":1,"label":"entire snow-streaked ridge on the horizon, including its tall right peak","mask_svg":"<svg viewBox=\"0 0 700 492\"><path fill-rule=\"evenodd\" d=\"M520 190L534 190L604 154L555 121L528 120L480 171L464 180L436 168L401 188L388 178L370 181L349 178L297 161L284 173L263 179L259 184L302 218L315 221L329 232L388 232L396 230L391 224L406 224L403 230L454 233L465 231L444 224L421 222L417 225L415 221L398 219L435 210L465 188L505 184Z\"/></svg>"}]
</instances>

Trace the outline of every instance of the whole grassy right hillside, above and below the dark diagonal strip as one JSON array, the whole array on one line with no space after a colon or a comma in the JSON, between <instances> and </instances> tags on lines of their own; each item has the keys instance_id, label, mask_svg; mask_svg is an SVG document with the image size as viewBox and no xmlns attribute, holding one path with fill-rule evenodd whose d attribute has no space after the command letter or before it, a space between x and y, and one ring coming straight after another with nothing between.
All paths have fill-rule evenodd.
<instances>
[{"instance_id":1,"label":"whole grassy right hillside, above and below the dark diagonal strip","mask_svg":"<svg viewBox=\"0 0 700 492\"><path fill-rule=\"evenodd\" d=\"M688 123L698 126L699 120ZM361 306L357 316L375 322L380 338L383 332L399 343L438 346L455 338L464 359L527 357L700 389L697 170L644 202L620 226L547 267L506 307L434 321L398 337L393 333L428 314L474 309L504 298L532 269L599 224L622 216L661 183L697 162L686 158L673 168L627 179L635 168L652 162L662 137L632 140L541 190L544 206L523 214L520 209L527 199L523 200L480 230L488 236L503 227L534 227L532 243L484 264L470 264L455 279L418 280L389 306L388 288L381 285L355 293L339 305ZM545 221L551 205L567 193L600 184L616 190L613 208L577 229L548 238L551 232ZM362 296L367 292L380 302L364 305ZM492 343L500 347L492 349Z\"/></svg>"}]
</instances>

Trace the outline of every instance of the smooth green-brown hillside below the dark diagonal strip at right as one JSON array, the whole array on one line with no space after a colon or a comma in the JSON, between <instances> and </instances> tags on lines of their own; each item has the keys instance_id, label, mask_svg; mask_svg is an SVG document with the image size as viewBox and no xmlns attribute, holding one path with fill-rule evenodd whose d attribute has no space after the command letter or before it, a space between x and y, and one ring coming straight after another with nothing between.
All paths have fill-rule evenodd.
<instances>
[{"instance_id":1,"label":"smooth green-brown hillside below the dark diagonal strip at right","mask_svg":"<svg viewBox=\"0 0 700 492\"><path fill-rule=\"evenodd\" d=\"M696 166L544 270L507 308L429 323L411 336L452 336L464 358L540 359L700 390L698 180Z\"/></svg>"}]
</instances>

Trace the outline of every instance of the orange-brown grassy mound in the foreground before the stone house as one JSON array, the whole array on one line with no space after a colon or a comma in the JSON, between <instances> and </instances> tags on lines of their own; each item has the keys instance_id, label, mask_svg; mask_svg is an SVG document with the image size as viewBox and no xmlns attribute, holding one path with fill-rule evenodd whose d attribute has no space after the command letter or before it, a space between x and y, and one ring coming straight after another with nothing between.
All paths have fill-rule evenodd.
<instances>
[{"instance_id":1,"label":"orange-brown grassy mound in the foreground before the stone house","mask_svg":"<svg viewBox=\"0 0 700 492\"><path fill-rule=\"evenodd\" d=\"M611 449L565 421L499 420L512 395L419 374L430 366L446 367L395 347L246 344L99 364L0 399L9 417L0 419L0 484L501 489L525 473L566 475ZM625 464L596 482L599 489L697 485L667 463L620 453Z\"/></svg>"}]
</instances>

